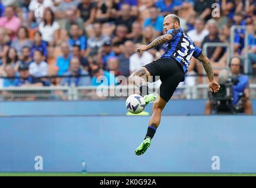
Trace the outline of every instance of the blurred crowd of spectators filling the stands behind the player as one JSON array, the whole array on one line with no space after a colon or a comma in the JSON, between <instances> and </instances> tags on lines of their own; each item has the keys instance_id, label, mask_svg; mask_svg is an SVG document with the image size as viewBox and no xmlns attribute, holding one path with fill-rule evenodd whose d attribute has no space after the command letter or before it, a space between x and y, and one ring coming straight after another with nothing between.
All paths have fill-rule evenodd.
<instances>
[{"instance_id":1,"label":"blurred crowd of spectators filling the stands behind the player","mask_svg":"<svg viewBox=\"0 0 256 188\"><path fill-rule=\"evenodd\" d=\"M219 16L212 16L214 3ZM230 43L231 26L246 25L248 72L256 75L255 11L254 0L2 0L1 85L88 86L99 85L99 75L129 76L165 51L165 45L140 53L136 47L163 34L168 14L180 17L181 28L201 48L206 42ZM244 37L244 29L235 31L238 55L245 55ZM214 68L227 66L225 48L208 48L207 55ZM188 75L202 71L192 58ZM184 83L202 82L195 78Z\"/></svg>"}]
</instances>

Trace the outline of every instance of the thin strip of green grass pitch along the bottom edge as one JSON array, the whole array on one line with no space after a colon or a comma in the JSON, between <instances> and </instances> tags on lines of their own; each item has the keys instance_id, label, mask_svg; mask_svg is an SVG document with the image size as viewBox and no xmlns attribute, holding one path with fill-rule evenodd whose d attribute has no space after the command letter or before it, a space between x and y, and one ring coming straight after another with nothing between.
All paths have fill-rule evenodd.
<instances>
[{"instance_id":1,"label":"thin strip of green grass pitch along the bottom edge","mask_svg":"<svg viewBox=\"0 0 256 188\"><path fill-rule=\"evenodd\" d=\"M256 176L238 173L0 173L0 176Z\"/></svg>"}]
</instances>

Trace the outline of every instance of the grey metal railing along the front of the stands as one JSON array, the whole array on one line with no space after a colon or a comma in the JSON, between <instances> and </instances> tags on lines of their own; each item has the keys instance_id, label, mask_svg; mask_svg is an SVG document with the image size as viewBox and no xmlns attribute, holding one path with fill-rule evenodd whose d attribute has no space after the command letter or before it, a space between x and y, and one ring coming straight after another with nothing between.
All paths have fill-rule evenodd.
<instances>
[{"instance_id":1,"label":"grey metal railing along the front of the stands","mask_svg":"<svg viewBox=\"0 0 256 188\"><path fill-rule=\"evenodd\" d=\"M151 88L157 93L159 88ZM256 99L256 84L250 85L251 98ZM179 85L172 99L207 99L208 84L187 86ZM50 86L50 87L20 87L1 88L1 101L15 100L109 100L126 99L133 93L139 93L136 86ZM205 95L206 93L206 95Z\"/></svg>"}]
</instances>

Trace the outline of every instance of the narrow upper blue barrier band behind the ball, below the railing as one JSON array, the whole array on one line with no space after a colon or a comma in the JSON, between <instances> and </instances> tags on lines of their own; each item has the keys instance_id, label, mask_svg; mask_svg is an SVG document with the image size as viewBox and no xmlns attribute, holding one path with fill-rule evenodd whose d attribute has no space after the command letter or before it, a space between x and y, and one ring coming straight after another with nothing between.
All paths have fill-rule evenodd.
<instances>
[{"instance_id":1,"label":"narrow upper blue barrier band behind the ball, below the railing","mask_svg":"<svg viewBox=\"0 0 256 188\"><path fill-rule=\"evenodd\" d=\"M164 115L202 115L206 100L170 100ZM254 112L256 100L252 100ZM145 109L151 113L152 104ZM0 115L125 115L124 100L1 102Z\"/></svg>"}]
</instances>

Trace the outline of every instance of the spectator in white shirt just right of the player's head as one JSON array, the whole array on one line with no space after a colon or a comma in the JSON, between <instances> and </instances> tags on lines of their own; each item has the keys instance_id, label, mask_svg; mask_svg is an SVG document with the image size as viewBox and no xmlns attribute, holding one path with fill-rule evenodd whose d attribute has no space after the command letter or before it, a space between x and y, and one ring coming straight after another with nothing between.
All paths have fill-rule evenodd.
<instances>
[{"instance_id":1,"label":"spectator in white shirt just right of the player's head","mask_svg":"<svg viewBox=\"0 0 256 188\"><path fill-rule=\"evenodd\" d=\"M201 47L201 43L206 35L209 35L209 31L205 29L204 20L197 18L195 21L195 29L189 31L187 34L196 46Z\"/></svg>"}]
</instances>

